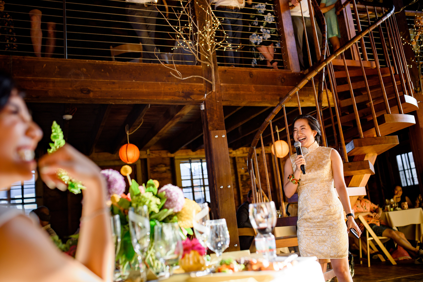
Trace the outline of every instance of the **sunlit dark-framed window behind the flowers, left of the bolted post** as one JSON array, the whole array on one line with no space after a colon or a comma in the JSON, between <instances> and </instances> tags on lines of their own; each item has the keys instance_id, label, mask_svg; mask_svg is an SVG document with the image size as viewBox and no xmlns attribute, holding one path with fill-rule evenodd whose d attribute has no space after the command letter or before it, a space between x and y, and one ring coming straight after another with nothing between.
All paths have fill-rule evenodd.
<instances>
[{"instance_id":1,"label":"sunlit dark-framed window behind the flowers, left of the bolted post","mask_svg":"<svg viewBox=\"0 0 423 282\"><path fill-rule=\"evenodd\" d=\"M206 161L203 158L190 158L179 159L178 162L178 168L181 172L178 185L182 188L184 197L197 203L210 202Z\"/></svg>"}]
</instances>

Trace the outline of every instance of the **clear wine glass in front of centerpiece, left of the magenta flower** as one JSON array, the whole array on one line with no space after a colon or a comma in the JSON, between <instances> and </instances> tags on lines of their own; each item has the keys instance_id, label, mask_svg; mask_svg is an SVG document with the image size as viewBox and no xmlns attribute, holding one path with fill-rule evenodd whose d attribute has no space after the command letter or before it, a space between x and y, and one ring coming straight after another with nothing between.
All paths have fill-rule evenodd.
<instances>
[{"instance_id":1,"label":"clear wine glass in front of centerpiece, left of the magenta flower","mask_svg":"<svg viewBox=\"0 0 423 282\"><path fill-rule=\"evenodd\" d=\"M176 222L154 226L154 250L156 257L166 266L166 277L172 275L172 267L184 251L180 230Z\"/></svg>"}]
</instances>

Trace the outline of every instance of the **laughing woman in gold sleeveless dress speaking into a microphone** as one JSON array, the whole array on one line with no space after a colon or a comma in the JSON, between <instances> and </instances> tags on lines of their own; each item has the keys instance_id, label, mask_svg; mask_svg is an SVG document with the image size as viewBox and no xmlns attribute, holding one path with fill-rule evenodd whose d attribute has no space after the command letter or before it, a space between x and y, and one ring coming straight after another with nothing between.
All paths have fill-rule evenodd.
<instances>
[{"instance_id":1,"label":"laughing woman in gold sleeveless dress speaking into a microphone","mask_svg":"<svg viewBox=\"0 0 423 282\"><path fill-rule=\"evenodd\" d=\"M298 246L302 256L329 258L340 282L352 282L348 264L348 234L354 221L343 178L339 153L319 146L319 122L311 115L299 115L292 123L295 141L301 142L302 155L295 153L285 164L283 189L286 197L298 192ZM302 174L301 165L306 174ZM339 199L336 197L335 188ZM347 214L347 224L343 217Z\"/></svg>"}]
</instances>

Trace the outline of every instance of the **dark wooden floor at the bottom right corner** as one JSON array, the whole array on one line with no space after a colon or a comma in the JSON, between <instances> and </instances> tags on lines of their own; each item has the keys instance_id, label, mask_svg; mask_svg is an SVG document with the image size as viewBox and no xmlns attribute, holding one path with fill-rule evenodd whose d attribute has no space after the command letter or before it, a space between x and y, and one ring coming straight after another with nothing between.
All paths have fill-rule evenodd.
<instances>
[{"instance_id":1,"label":"dark wooden floor at the bottom right corner","mask_svg":"<svg viewBox=\"0 0 423 282\"><path fill-rule=\"evenodd\" d=\"M354 282L423 282L423 264L415 265L414 260L401 260L396 266L371 260L370 267L360 265L357 257L354 262Z\"/></svg>"}]
</instances>

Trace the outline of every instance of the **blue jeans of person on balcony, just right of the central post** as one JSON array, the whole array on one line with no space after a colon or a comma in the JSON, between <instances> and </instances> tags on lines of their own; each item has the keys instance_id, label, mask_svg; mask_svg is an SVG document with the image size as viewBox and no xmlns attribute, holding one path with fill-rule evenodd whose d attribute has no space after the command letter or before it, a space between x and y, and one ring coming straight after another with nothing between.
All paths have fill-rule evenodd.
<instances>
[{"instance_id":1,"label":"blue jeans of person on balcony, just right of the central post","mask_svg":"<svg viewBox=\"0 0 423 282\"><path fill-rule=\"evenodd\" d=\"M226 41L231 47L226 48L225 59L229 66L239 66L239 52L233 52L232 47L236 49L241 43L241 31L242 31L242 14L239 9L228 9L223 7L217 7L217 11L214 14L218 18L222 18L222 27L226 33Z\"/></svg>"}]
</instances>

